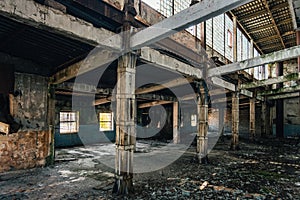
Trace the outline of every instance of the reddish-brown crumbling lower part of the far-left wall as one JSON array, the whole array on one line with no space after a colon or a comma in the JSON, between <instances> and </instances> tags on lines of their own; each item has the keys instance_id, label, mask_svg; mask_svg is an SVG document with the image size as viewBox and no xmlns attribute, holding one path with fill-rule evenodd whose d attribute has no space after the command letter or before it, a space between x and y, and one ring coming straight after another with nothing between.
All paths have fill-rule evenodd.
<instances>
[{"instance_id":1,"label":"reddish-brown crumbling lower part of the far-left wall","mask_svg":"<svg viewBox=\"0 0 300 200\"><path fill-rule=\"evenodd\" d=\"M50 155L49 131L22 131L0 136L0 173L44 166Z\"/></svg>"}]
</instances>

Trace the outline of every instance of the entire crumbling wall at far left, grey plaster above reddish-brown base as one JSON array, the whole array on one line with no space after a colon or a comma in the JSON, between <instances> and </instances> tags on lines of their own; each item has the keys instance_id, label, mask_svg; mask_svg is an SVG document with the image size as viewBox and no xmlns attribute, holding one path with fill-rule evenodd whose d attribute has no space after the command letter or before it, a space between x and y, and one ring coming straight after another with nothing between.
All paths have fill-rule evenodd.
<instances>
[{"instance_id":1,"label":"entire crumbling wall at far left, grey plaster above reddish-brown base","mask_svg":"<svg viewBox=\"0 0 300 200\"><path fill-rule=\"evenodd\" d=\"M48 79L15 73L13 117L17 133L0 136L0 172L44 166L50 156L51 130L47 125Z\"/></svg>"}]
</instances>

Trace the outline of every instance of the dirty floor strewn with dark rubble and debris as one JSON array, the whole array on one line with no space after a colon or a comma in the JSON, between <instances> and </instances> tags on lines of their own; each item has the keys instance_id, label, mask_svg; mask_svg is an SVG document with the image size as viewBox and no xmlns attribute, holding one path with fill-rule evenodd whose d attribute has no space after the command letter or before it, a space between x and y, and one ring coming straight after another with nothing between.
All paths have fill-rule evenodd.
<instances>
[{"instance_id":1,"label":"dirty floor strewn with dark rubble and debris","mask_svg":"<svg viewBox=\"0 0 300 200\"><path fill-rule=\"evenodd\" d=\"M0 199L300 199L299 140L241 142L239 151L229 144L218 143L207 165L191 146L171 165L135 174L126 197L112 195L114 170L93 146L59 149L53 166L0 174Z\"/></svg>"}]
</instances>

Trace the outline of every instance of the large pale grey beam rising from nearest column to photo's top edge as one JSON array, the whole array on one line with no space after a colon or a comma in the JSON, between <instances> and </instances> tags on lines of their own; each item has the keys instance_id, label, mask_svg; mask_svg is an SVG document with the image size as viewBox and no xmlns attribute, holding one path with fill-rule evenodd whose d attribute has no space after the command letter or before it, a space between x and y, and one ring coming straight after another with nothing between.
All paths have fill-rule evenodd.
<instances>
[{"instance_id":1,"label":"large pale grey beam rising from nearest column to photo's top edge","mask_svg":"<svg viewBox=\"0 0 300 200\"><path fill-rule=\"evenodd\" d=\"M204 22L238 6L249 3L250 1L251 0L203 0L153 26L136 33L131 38L131 48L139 49L141 47L153 44L164 38L167 38L177 31L181 31L192 25Z\"/></svg>"}]
</instances>

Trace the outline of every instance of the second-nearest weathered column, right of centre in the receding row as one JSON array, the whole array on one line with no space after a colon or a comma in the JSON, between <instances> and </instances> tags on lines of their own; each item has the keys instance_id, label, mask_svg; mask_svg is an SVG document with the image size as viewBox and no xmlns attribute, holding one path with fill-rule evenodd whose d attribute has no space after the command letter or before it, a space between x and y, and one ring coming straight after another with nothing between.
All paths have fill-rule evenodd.
<instances>
[{"instance_id":1,"label":"second-nearest weathered column, right of centre in the receding row","mask_svg":"<svg viewBox=\"0 0 300 200\"><path fill-rule=\"evenodd\" d=\"M197 96L198 110L198 132L197 132L197 154L201 164L208 163L207 148L208 148L208 103L205 96L204 88L201 87L200 93Z\"/></svg>"}]
</instances>

